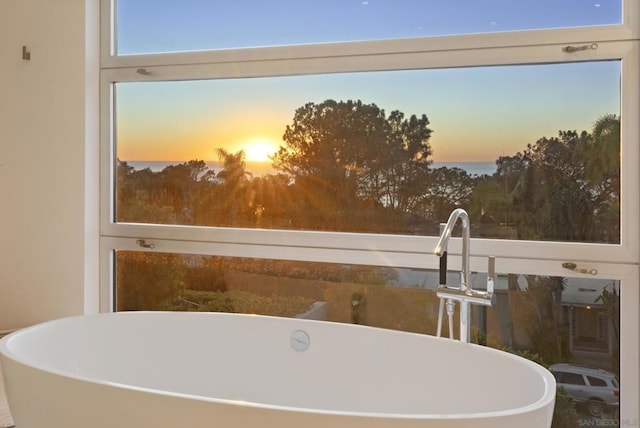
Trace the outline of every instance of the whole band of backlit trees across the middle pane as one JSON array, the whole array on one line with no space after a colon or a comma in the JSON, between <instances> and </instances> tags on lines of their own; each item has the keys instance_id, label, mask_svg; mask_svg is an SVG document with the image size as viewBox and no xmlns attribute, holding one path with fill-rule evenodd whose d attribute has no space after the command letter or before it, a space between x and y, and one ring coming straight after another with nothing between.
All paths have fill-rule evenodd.
<instances>
[{"instance_id":1,"label":"whole band of backlit trees across the middle pane","mask_svg":"<svg viewBox=\"0 0 640 428\"><path fill-rule=\"evenodd\" d=\"M496 172L431 166L425 114L389 114L360 100L307 103L272 156L275 173L253 176L243 151L214 149L159 172L117 166L117 219L202 226L437 234L462 207L475 236L618 243L620 119L591 132L542 136Z\"/></svg>"}]
</instances>

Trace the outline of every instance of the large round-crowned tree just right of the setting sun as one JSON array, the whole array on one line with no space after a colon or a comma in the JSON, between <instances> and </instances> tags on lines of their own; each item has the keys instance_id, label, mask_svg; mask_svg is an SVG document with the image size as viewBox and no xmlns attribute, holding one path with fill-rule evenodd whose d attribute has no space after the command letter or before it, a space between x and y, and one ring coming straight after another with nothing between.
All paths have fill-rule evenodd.
<instances>
[{"instance_id":1,"label":"large round-crowned tree just right of the setting sun","mask_svg":"<svg viewBox=\"0 0 640 428\"><path fill-rule=\"evenodd\" d=\"M292 178L316 226L346 228L365 206L409 212L426 188L428 124L398 111L387 118L360 100L307 103L287 126L274 167Z\"/></svg>"}]
</instances>

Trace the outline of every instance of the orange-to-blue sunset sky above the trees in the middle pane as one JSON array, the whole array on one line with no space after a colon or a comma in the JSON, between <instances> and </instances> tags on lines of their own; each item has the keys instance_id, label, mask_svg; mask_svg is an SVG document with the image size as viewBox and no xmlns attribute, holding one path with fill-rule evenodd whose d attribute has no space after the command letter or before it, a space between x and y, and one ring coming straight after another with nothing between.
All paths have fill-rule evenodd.
<instances>
[{"instance_id":1,"label":"orange-to-blue sunset sky above the trees in the middle pane","mask_svg":"<svg viewBox=\"0 0 640 428\"><path fill-rule=\"evenodd\" d=\"M348 99L407 117L426 114L434 162L495 162L558 130L590 131L598 117L618 114L619 76L620 63L612 61L119 83L117 157L216 162L216 150L224 149L266 163L286 144L297 109Z\"/></svg>"}]
</instances>

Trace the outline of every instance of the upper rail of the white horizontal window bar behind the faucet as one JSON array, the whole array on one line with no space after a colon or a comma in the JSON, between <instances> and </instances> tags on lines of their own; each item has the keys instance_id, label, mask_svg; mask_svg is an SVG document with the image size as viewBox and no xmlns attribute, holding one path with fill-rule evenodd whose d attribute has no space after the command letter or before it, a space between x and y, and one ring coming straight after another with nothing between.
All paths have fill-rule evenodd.
<instances>
[{"instance_id":1,"label":"upper rail of the white horizontal window bar behind the faucet","mask_svg":"<svg viewBox=\"0 0 640 428\"><path fill-rule=\"evenodd\" d=\"M211 228L198 226L166 226L142 224L111 225L103 233L105 237L128 239L135 245L139 239L167 243L171 247L188 248L190 245L206 248L231 249L255 246L274 251L352 251L356 253L394 253L430 257L437 237L388 235L373 233L323 232L276 229ZM169 245L171 244L171 245ZM155 245L160 251L161 245ZM460 254L462 239L453 237L449 254ZM140 249L139 246L136 249ZM235 251L235 250L234 250ZM550 241L521 241L472 238L471 254L474 256L510 258L521 260L556 260L578 262L611 262L637 264L632 252L622 245ZM291 257L291 256L287 256ZM437 257L433 257L437 259ZM375 260L375 256L372 261ZM418 264L422 263L421 261Z\"/></svg>"}]
</instances>

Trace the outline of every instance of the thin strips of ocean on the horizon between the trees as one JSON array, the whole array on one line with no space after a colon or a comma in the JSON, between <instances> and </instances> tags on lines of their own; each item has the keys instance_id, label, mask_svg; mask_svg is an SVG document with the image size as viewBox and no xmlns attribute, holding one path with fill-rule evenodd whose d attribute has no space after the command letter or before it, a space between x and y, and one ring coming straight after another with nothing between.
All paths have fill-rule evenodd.
<instances>
[{"instance_id":1,"label":"thin strips of ocean on the horizon between the trees","mask_svg":"<svg viewBox=\"0 0 640 428\"><path fill-rule=\"evenodd\" d=\"M168 166L179 165L186 161L125 161L135 170L143 170L149 168L153 172L160 172ZM220 161L204 161L205 165L212 171L220 171L222 162ZM247 171L254 177L260 177L267 174L275 174L276 170L271 167L269 162L252 162L246 161ZM495 162L433 162L432 168L460 168L469 175L493 175L496 170Z\"/></svg>"}]
</instances>

